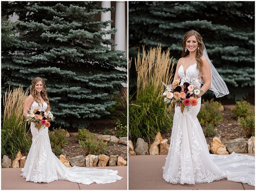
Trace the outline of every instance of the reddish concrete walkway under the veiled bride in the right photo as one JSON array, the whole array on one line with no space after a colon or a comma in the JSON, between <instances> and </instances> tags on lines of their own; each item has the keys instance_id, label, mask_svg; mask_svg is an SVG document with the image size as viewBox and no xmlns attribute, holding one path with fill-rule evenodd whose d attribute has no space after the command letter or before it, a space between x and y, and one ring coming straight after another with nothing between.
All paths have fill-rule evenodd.
<instances>
[{"instance_id":1,"label":"reddish concrete walkway under the veiled bride in the right photo","mask_svg":"<svg viewBox=\"0 0 256 191\"><path fill-rule=\"evenodd\" d=\"M254 156L254 154L249 154ZM202 184L170 184L163 179L167 155L129 156L129 190L254 190L254 186L227 179Z\"/></svg>"}]
</instances>

